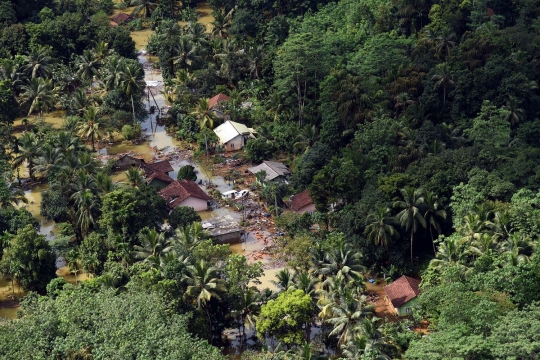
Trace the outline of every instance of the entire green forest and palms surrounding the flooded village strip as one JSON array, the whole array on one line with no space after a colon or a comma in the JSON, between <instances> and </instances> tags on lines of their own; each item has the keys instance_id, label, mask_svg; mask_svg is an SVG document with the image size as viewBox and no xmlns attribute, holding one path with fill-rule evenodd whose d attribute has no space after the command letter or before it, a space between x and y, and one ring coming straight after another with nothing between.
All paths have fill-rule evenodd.
<instances>
[{"instance_id":1,"label":"entire green forest and palms surrounding the flooded village strip","mask_svg":"<svg viewBox=\"0 0 540 360\"><path fill-rule=\"evenodd\" d=\"M536 359L538 1L208 3L205 25L195 0L0 0L0 266L23 298L0 357L221 359L238 329L245 360ZM235 157L291 168L252 187L285 233L276 290L195 211L97 159L143 132L141 30L167 131L196 159L224 161L208 104L224 93L257 131ZM43 120L56 110L60 127ZM51 241L24 207L37 184ZM316 211L286 211L306 189ZM92 276L66 283L58 256ZM383 318L366 280L401 275L421 279L417 305Z\"/></svg>"}]
</instances>

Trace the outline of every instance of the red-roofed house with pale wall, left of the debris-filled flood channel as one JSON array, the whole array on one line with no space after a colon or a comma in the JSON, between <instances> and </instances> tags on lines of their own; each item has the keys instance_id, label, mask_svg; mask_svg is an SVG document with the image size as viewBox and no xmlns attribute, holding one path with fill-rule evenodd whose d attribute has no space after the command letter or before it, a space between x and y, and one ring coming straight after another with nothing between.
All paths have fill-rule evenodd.
<instances>
[{"instance_id":1,"label":"red-roofed house with pale wall, left of the debris-filled flood channel","mask_svg":"<svg viewBox=\"0 0 540 360\"><path fill-rule=\"evenodd\" d=\"M208 209L208 201L211 200L210 196L191 180L174 180L158 194L171 210L177 206L189 206L195 211L204 211Z\"/></svg>"}]
</instances>

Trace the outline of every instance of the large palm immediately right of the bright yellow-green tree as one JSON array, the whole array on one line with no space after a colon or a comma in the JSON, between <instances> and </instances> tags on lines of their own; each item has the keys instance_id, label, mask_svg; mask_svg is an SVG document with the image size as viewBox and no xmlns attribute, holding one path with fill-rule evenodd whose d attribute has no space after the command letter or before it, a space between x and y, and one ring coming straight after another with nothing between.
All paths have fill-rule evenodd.
<instances>
[{"instance_id":1,"label":"large palm immediately right of the bright yellow-green tree","mask_svg":"<svg viewBox=\"0 0 540 360\"><path fill-rule=\"evenodd\" d=\"M334 326L330 336L339 336L338 346L347 343L357 322L373 316L375 307L368 305L367 297L346 289L339 301L332 303L325 321Z\"/></svg>"}]
</instances>

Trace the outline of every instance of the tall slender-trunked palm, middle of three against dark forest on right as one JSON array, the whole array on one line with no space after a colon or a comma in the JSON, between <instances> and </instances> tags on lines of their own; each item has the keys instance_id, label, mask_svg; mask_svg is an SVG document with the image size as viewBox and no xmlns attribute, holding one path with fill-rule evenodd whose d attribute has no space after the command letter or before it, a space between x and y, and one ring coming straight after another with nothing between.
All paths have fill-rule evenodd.
<instances>
[{"instance_id":1,"label":"tall slender-trunked palm, middle of three against dark forest on right","mask_svg":"<svg viewBox=\"0 0 540 360\"><path fill-rule=\"evenodd\" d=\"M420 212L420 206L424 204L424 197L420 189L416 190L411 186L407 186L404 189L400 189L403 200L394 202L394 207L402 209L397 214L397 219L402 228L405 231L411 233L411 264L413 263L413 239L414 233L418 230L418 226L421 225L426 228L426 219Z\"/></svg>"}]
</instances>

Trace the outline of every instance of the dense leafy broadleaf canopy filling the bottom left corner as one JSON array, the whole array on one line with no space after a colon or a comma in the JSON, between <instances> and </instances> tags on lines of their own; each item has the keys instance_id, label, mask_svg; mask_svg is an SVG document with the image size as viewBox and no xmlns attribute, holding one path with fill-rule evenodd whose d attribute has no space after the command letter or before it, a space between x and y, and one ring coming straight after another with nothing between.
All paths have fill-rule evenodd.
<instances>
[{"instance_id":1,"label":"dense leafy broadleaf canopy filling the bottom left corner","mask_svg":"<svg viewBox=\"0 0 540 360\"><path fill-rule=\"evenodd\" d=\"M156 294L117 296L112 290L70 287L56 299L29 299L23 309L21 320L0 326L5 359L74 353L108 359L222 358L218 349L191 337L186 316L168 313Z\"/></svg>"}]
</instances>

